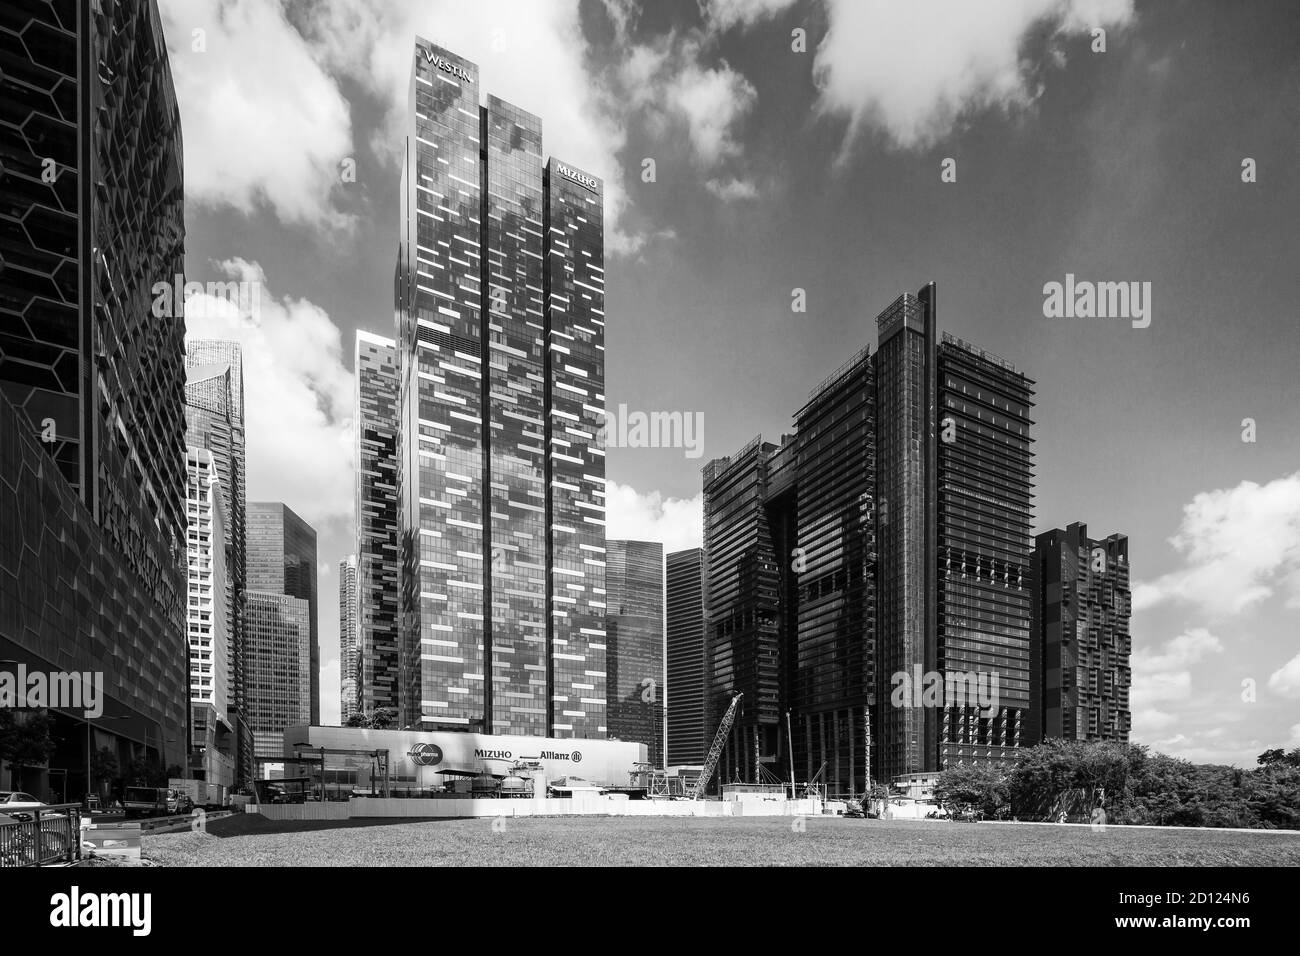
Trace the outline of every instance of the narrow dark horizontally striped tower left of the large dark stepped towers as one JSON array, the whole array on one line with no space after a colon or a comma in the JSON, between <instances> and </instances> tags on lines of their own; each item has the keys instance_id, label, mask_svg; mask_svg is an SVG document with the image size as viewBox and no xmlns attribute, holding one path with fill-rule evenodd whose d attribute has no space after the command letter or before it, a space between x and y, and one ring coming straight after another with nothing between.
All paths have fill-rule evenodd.
<instances>
[{"instance_id":1,"label":"narrow dark horizontally striped tower left of the large dark stepped towers","mask_svg":"<svg viewBox=\"0 0 1300 956\"><path fill-rule=\"evenodd\" d=\"M711 735L705 727L703 551L673 551L667 559L668 766L703 763Z\"/></svg>"}]
</instances>

